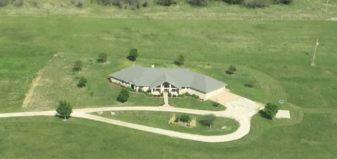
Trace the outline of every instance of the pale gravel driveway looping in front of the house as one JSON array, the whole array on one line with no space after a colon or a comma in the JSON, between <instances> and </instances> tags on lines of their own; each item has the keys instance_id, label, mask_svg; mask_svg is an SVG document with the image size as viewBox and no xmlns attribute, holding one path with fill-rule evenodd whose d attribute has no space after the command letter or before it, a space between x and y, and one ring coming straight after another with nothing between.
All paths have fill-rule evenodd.
<instances>
[{"instance_id":1,"label":"pale gravel driveway looping in front of the house","mask_svg":"<svg viewBox=\"0 0 337 159\"><path fill-rule=\"evenodd\" d=\"M204 142L223 142L231 141L242 138L249 133L251 117L261 108L260 104L249 100L244 97L235 98L234 100L223 102L223 96L226 94L219 94L211 100L216 100L217 102L226 105L227 109L224 111L207 111L207 110L196 110L187 108L177 108L177 107L163 107L163 106L120 106L120 107L98 107L98 108L83 108L83 109L73 109L71 116L92 119L96 121L102 121L106 123L112 123L116 125L121 125L125 127L135 128L143 131L191 139ZM166 130L161 128L149 127L140 124L134 124L114 119L108 119L100 116L95 116L87 114L88 112L97 111L116 111L116 110L146 110L146 111L171 111L171 112L184 112L193 114L205 114L214 113L216 116L230 117L234 118L240 123L237 131L226 134L226 135L214 135L205 136L197 134L189 134L183 132L177 132L172 130ZM13 116L38 116L38 115L54 115L55 111L34 111L34 112L14 112L14 113L0 113L0 117L13 117Z\"/></svg>"}]
</instances>

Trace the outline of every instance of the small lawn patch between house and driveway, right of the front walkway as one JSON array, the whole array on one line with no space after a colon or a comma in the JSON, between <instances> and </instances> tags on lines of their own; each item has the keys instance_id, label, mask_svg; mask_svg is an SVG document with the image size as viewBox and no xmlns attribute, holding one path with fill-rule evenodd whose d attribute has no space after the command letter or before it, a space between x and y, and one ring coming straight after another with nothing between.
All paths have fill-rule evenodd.
<instances>
[{"instance_id":1,"label":"small lawn patch between house and driveway, right of the front walkway","mask_svg":"<svg viewBox=\"0 0 337 159\"><path fill-rule=\"evenodd\" d=\"M199 101L191 96L186 96L185 98L180 97L170 97L169 104L174 107L183 107L183 108L190 108L190 109L202 109L202 110L226 110L226 107L223 105L219 105L218 107L212 106L212 101L205 100Z\"/></svg>"}]
</instances>

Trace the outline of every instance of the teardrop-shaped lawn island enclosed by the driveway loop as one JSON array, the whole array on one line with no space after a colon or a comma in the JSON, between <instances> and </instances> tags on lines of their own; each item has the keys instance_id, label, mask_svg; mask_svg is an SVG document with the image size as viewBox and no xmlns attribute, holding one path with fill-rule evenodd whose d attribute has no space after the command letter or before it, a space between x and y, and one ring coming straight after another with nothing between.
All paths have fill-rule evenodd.
<instances>
[{"instance_id":1,"label":"teardrop-shaped lawn island enclosed by the driveway loop","mask_svg":"<svg viewBox=\"0 0 337 159\"><path fill-rule=\"evenodd\" d=\"M91 113L93 115L103 116L106 118L127 121L131 123L137 123L141 125L157 127L162 129L174 130L179 132L201 134L201 135L222 135L229 134L238 129L239 123L231 118L216 117L211 128L199 123L199 120L203 118L203 115L189 114L190 118L196 117L196 126L193 128L184 126L172 126L168 123L172 112L162 111L114 111L116 115L110 115L109 112L103 112L98 115L96 112ZM176 117L179 117L183 113L175 113ZM222 126L227 126L225 129L221 129Z\"/></svg>"}]
</instances>

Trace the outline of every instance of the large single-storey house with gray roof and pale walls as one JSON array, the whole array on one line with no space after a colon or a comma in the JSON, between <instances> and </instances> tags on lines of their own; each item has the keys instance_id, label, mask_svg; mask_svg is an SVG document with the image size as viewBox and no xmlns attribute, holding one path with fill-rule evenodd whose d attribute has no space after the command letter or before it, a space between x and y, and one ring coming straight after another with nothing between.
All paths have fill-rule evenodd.
<instances>
[{"instance_id":1,"label":"large single-storey house with gray roof and pale walls","mask_svg":"<svg viewBox=\"0 0 337 159\"><path fill-rule=\"evenodd\" d=\"M134 65L109 74L110 81L136 90L178 95L188 92L199 98L209 97L226 90L226 83L187 68L155 68Z\"/></svg>"}]
</instances>

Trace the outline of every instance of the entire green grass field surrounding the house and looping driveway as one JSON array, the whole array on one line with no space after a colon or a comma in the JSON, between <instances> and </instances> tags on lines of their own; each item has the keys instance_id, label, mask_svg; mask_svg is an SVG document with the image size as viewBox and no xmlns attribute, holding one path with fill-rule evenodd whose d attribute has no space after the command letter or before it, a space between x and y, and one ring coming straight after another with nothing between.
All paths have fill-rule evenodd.
<instances>
[{"instance_id":1,"label":"entire green grass field surrounding the house and looping driveway","mask_svg":"<svg viewBox=\"0 0 337 159\"><path fill-rule=\"evenodd\" d=\"M122 11L88 0L82 9L59 7L62 2L39 0L40 9L29 3L0 8L0 112L53 109L61 98L75 107L121 105L115 101L121 88L106 83L106 78L132 65L126 56L136 47L140 54L136 64L176 67L172 61L183 53L182 67L226 82L232 92L261 103L284 99L281 109L290 110L292 118L267 120L256 114L248 135L222 143L176 139L80 118L67 122L44 116L0 118L0 158L330 159L337 155L333 135L337 22L313 20L335 17L335 0L329 0L328 13L324 13L325 0L294 0L290 6L262 9L219 2L198 8L179 1L171 7ZM313 55L316 38L316 65L310 67L306 52ZM95 62L101 52L109 54L106 64ZM84 62L80 73L71 71L77 59ZM230 64L238 68L233 75L225 73ZM33 99L22 107L39 70ZM88 78L85 88L76 87L81 75ZM255 87L245 87L252 78ZM95 92L94 98L89 91ZM132 94L124 105L161 102L162 98Z\"/></svg>"}]
</instances>

